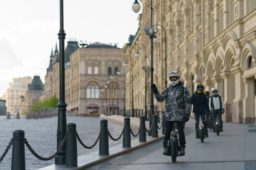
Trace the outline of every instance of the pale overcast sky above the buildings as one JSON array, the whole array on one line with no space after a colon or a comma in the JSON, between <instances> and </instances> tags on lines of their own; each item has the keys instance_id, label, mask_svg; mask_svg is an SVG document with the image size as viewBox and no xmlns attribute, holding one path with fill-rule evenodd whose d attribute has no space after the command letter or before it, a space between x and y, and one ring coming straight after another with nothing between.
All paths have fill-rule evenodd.
<instances>
[{"instance_id":1,"label":"pale overcast sky above the buildings","mask_svg":"<svg viewBox=\"0 0 256 170\"><path fill-rule=\"evenodd\" d=\"M64 0L69 38L118 43L138 29L134 0ZM59 0L5 0L0 4L0 97L12 78L39 74L44 83L51 48L59 49Z\"/></svg>"}]
</instances>

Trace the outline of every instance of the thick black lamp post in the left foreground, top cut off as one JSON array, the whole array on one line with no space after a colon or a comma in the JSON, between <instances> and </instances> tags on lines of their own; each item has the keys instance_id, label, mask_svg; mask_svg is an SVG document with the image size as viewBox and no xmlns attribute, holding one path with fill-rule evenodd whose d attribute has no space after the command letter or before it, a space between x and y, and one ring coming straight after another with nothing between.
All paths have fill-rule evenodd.
<instances>
[{"instance_id":1,"label":"thick black lamp post in the left foreground, top cut off","mask_svg":"<svg viewBox=\"0 0 256 170\"><path fill-rule=\"evenodd\" d=\"M60 30L59 30L59 103L58 103L58 129L57 129L57 149L61 145L67 133L67 117L65 102L65 62L64 62L64 40L66 33L64 31L63 23L63 0L60 0ZM56 165L65 164L66 157L66 145L62 147L60 152L55 157Z\"/></svg>"}]
</instances>

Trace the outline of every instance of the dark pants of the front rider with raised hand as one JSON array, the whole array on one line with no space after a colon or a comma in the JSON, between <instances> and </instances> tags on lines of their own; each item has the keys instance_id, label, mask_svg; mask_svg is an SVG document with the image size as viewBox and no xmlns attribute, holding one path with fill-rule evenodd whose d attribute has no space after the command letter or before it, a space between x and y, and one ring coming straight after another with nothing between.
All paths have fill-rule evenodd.
<instances>
[{"instance_id":1,"label":"dark pants of the front rider with raised hand","mask_svg":"<svg viewBox=\"0 0 256 170\"><path fill-rule=\"evenodd\" d=\"M163 142L164 148L166 148L168 145L168 140L170 139L170 134L172 132L173 125L174 125L173 121L165 121L165 132L164 132L164 142ZM179 132L179 143L180 143L180 147L182 148L186 147L184 126L185 126L185 122L177 122L177 128Z\"/></svg>"}]
</instances>

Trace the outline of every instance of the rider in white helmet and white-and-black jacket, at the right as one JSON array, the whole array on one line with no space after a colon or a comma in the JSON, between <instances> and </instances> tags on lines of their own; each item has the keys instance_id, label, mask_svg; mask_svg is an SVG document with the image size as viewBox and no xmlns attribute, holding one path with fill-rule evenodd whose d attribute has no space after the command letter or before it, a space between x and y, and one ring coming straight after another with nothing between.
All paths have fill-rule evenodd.
<instances>
[{"instance_id":1,"label":"rider in white helmet and white-and-black jacket, at the right","mask_svg":"<svg viewBox=\"0 0 256 170\"><path fill-rule=\"evenodd\" d=\"M213 122L216 121L217 115L220 121L220 132L223 131L222 114L224 114L224 103L222 97L218 95L218 89L212 87L212 96L209 98L210 111L213 113ZM213 132L215 130L213 129Z\"/></svg>"}]
</instances>

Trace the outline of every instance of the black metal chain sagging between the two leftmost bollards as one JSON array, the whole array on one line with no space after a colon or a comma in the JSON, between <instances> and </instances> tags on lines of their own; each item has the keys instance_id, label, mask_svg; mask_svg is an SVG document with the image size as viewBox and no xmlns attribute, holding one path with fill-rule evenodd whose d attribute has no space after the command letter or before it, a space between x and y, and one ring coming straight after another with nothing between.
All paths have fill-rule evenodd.
<instances>
[{"instance_id":1,"label":"black metal chain sagging between the two leftmost bollards","mask_svg":"<svg viewBox=\"0 0 256 170\"><path fill-rule=\"evenodd\" d=\"M44 158L44 157L41 157L39 156L32 148L31 146L29 145L28 141L26 138L24 138L24 143L26 144L26 146L28 147L28 150L36 157L38 158L39 160L52 160L58 153L59 151L63 148L64 144L66 143L66 140L67 140L67 136L69 135L69 132L70 132L70 129L67 130L67 133L64 137L64 139L62 140L61 142L61 145L59 145L59 148L57 149L57 151L51 155L50 157L48 158Z\"/></svg>"}]
</instances>

